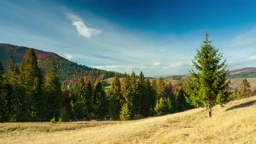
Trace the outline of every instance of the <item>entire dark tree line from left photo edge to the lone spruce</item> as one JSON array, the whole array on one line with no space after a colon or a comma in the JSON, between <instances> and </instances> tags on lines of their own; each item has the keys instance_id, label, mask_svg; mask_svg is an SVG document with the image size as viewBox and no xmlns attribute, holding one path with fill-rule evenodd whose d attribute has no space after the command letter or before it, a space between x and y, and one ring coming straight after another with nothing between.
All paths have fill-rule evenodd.
<instances>
[{"instance_id":1,"label":"entire dark tree line from left photo edge to the lone spruce","mask_svg":"<svg viewBox=\"0 0 256 144\"><path fill-rule=\"evenodd\" d=\"M108 94L102 81L81 77L69 90L61 88L55 59L44 75L33 49L19 67L8 56L7 73L0 62L0 121L77 121L99 118L131 120L136 116L165 115L193 108L181 84L163 78L150 80L141 72L116 74Z\"/></svg>"}]
</instances>

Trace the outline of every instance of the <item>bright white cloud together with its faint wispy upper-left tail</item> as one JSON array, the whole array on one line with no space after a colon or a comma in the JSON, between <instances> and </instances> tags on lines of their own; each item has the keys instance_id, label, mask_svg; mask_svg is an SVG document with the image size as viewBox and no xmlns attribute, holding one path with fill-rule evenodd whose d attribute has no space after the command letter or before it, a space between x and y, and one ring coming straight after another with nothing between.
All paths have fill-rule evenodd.
<instances>
[{"instance_id":1,"label":"bright white cloud together with its faint wispy upper-left tail","mask_svg":"<svg viewBox=\"0 0 256 144\"><path fill-rule=\"evenodd\" d=\"M84 36L86 38L90 38L92 35L98 35L101 33L101 30L92 29L85 25L83 20L72 13L67 13L67 17L69 20L72 20L72 25L76 27L76 31L78 35Z\"/></svg>"}]
</instances>

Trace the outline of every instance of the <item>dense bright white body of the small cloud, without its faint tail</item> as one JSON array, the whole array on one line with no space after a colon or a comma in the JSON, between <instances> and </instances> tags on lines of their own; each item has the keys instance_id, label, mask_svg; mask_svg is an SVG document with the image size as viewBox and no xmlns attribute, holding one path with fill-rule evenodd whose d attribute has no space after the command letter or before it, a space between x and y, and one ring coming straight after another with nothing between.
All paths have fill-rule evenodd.
<instances>
[{"instance_id":1,"label":"dense bright white body of the small cloud, without its faint tail","mask_svg":"<svg viewBox=\"0 0 256 144\"><path fill-rule=\"evenodd\" d=\"M72 25L76 26L78 35L85 36L86 38L90 38L92 35L98 35L101 33L101 30L91 29L87 27L82 21L75 21L72 23Z\"/></svg>"}]
</instances>

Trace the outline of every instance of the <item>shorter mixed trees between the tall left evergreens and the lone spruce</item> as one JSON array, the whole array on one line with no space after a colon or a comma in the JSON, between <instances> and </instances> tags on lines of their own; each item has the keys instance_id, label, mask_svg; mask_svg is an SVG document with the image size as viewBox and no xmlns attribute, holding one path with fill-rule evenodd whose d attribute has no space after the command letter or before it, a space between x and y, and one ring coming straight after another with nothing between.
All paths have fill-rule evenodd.
<instances>
[{"instance_id":1,"label":"shorter mixed trees between the tall left evergreens and the lone spruce","mask_svg":"<svg viewBox=\"0 0 256 144\"><path fill-rule=\"evenodd\" d=\"M163 78L150 81L141 72L115 75L106 94L100 80L85 83L83 77L63 92L60 121L90 119L131 120L138 117L165 115L193 108L186 102L181 83L173 86Z\"/></svg>"}]
</instances>

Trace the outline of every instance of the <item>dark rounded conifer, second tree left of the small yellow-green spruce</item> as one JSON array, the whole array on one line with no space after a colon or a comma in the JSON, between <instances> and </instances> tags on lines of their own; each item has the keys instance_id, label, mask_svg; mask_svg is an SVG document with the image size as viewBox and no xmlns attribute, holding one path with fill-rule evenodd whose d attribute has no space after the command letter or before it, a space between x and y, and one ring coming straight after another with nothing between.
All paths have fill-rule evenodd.
<instances>
[{"instance_id":1,"label":"dark rounded conifer, second tree left of the small yellow-green spruce","mask_svg":"<svg viewBox=\"0 0 256 144\"><path fill-rule=\"evenodd\" d=\"M92 108L94 115L97 116L103 116L107 111L106 93L99 80L95 82Z\"/></svg>"}]
</instances>

